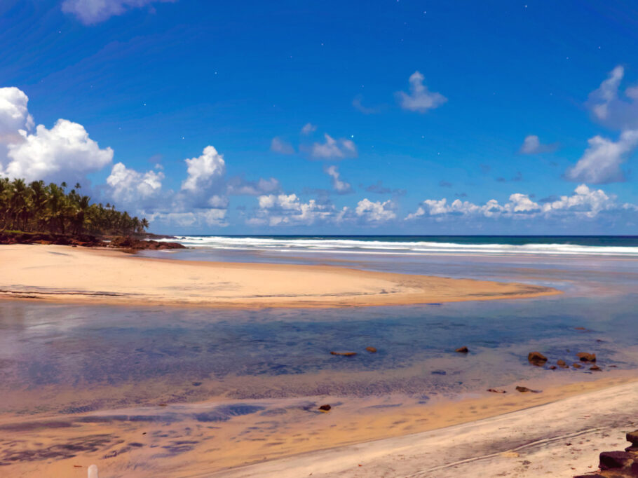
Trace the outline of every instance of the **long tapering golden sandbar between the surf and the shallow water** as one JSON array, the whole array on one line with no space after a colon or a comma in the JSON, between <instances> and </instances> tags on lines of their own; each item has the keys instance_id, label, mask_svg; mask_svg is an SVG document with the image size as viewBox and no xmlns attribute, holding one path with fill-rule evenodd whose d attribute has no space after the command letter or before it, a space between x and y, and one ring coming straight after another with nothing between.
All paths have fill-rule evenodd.
<instances>
[{"instance_id":1,"label":"long tapering golden sandbar between the surf and the shallow water","mask_svg":"<svg viewBox=\"0 0 638 478\"><path fill-rule=\"evenodd\" d=\"M149 259L55 245L0 247L0 298L208 307L394 306L521 299L538 285L334 266Z\"/></svg>"}]
</instances>

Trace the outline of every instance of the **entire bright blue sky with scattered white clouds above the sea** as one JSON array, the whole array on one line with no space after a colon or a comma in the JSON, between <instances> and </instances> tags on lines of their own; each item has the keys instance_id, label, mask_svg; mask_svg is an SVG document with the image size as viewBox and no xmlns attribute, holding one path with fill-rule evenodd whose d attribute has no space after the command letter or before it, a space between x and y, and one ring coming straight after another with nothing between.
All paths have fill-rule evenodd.
<instances>
[{"instance_id":1,"label":"entire bright blue sky with scattered white clouds above the sea","mask_svg":"<svg viewBox=\"0 0 638 478\"><path fill-rule=\"evenodd\" d=\"M5 0L0 172L156 232L637 234L637 25L630 1Z\"/></svg>"}]
</instances>

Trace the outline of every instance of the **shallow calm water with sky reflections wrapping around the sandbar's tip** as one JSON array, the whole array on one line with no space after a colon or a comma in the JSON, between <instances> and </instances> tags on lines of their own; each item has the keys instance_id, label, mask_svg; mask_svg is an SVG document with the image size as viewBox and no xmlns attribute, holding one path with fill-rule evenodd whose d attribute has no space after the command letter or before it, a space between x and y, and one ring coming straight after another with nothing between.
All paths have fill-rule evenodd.
<instances>
[{"instance_id":1,"label":"shallow calm water with sky reflections wrapping around the sandbar's tip","mask_svg":"<svg viewBox=\"0 0 638 478\"><path fill-rule=\"evenodd\" d=\"M184 254L201 259L198 251ZM218 259L257 257L229 254ZM285 260L319 261L311 256ZM327 260L322 257L320 262ZM107 453L150 453L151 446L173 456L212 439L213 432L222 442L244 445L247 437L263 441L281 432L283 423L292 427L321 416L316 408L323 400L350 416L376 415L407 406L429 407L442 398L517 381L593 378L588 367L531 367L531 350L547 355L548 365L559 359L571 364L577 352L596 353L603 369L599 376L638 366L638 261L370 257L360 264L341 259L333 263L527 280L566 293L513 301L327 310L5 301L0 303L0 435L20 433L33 443L18 446L11 439L0 440L0 461L66 460L90 455L91 450L107 459ZM369 353L369 346L376 353ZM468 346L470 353L455 353L460 346ZM335 350L356 355L331 355ZM241 430L237 423L243 423ZM91 432L85 439L79 440L79 431L74 431L100 424L104 433ZM403 432L412 430L412 425L405 426ZM271 435L265 438L259 430ZM60 448L55 440L47 442L42 434L54 431L76 451ZM147 433L148 440L142 440ZM277 453L299 450L294 438L287 443L290 449L281 445ZM153 453L148 457L157 455Z\"/></svg>"}]
</instances>

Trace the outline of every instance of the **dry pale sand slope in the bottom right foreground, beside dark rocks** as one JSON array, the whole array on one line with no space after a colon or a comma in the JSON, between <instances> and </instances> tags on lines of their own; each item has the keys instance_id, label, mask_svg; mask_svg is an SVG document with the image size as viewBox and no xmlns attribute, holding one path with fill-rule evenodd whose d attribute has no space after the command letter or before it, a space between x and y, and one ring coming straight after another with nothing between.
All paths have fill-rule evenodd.
<instances>
[{"instance_id":1,"label":"dry pale sand slope in the bottom right foreground, beside dark rocks","mask_svg":"<svg viewBox=\"0 0 638 478\"><path fill-rule=\"evenodd\" d=\"M633 378L444 428L182 476L569 478L595 471L599 452L626 446L637 393Z\"/></svg>"}]
</instances>

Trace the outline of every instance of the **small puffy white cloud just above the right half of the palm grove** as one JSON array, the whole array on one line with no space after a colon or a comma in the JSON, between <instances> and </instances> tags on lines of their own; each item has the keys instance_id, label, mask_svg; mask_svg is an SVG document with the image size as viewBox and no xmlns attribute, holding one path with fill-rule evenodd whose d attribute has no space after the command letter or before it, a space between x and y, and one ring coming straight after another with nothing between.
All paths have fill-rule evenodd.
<instances>
[{"instance_id":1,"label":"small puffy white cloud just above the right half of the palm grove","mask_svg":"<svg viewBox=\"0 0 638 478\"><path fill-rule=\"evenodd\" d=\"M135 204L154 196L162 189L163 172L137 172L126 168L123 163L117 163L107 177L107 184L111 187L111 197L116 203Z\"/></svg>"}]
</instances>

